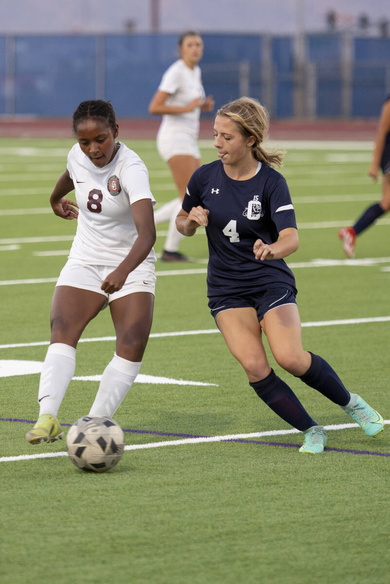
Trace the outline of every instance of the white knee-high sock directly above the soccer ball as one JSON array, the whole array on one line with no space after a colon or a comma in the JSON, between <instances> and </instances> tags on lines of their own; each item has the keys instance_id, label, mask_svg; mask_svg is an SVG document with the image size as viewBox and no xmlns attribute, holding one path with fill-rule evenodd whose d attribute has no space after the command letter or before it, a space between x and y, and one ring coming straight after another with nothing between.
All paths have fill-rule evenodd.
<instances>
[{"instance_id":1,"label":"white knee-high sock directly above the soccer ball","mask_svg":"<svg viewBox=\"0 0 390 584\"><path fill-rule=\"evenodd\" d=\"M127 361L114 353L113 359L103 371L99 390L97 390L89 415L112 418L130 390L140 367L141 362Z\"/></svg>"}]
</instances>

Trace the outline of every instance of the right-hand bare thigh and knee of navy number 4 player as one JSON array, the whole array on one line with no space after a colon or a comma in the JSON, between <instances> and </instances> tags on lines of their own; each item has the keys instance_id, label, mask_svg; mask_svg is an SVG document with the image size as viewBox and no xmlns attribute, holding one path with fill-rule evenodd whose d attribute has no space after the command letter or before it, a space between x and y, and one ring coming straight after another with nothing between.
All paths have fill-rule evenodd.
<instances>
[{"instance_id":1,"label":"right-hand bare thigh and knee of navy number 4 player","mask_svg":"<svg viewBox=\"0 0 390 584\"><path fill-rule=\"evenodd\" d=\"M285 304L273 308L264 314L260 325L277 363L293 375L303 375L310 367L311 355L302 347L297 305Z\"/></svg>"}]
</instances>

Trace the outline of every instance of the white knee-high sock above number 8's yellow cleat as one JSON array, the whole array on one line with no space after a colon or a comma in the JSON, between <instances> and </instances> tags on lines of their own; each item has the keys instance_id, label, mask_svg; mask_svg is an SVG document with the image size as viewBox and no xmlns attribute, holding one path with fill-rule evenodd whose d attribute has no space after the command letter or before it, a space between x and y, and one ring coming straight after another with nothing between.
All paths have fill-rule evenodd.
<instances>
[{"instance_id":1,"label":"white knee-high sock above number 8's yellow cleat","mask_svg":"<svg viewBox=\"0 0 390 584\"><path fill-rule=\"evenodd\" d=\"M63 343L53 343L47 349L39 381L39 415L50 413L57 418L65 391L74 376L76 349Z\"/></svg>"}]
</instances>

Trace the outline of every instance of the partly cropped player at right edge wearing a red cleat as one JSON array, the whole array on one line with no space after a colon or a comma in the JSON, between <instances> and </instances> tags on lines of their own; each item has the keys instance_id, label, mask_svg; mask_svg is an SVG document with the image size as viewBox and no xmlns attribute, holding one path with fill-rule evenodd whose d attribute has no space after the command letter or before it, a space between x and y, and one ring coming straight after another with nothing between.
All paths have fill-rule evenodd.
<instances>
[{"instance_id":1,"label":"partly cropped player at right edge wearing a red cleat","mask_svg":"<svg viewBox=\"0 0 390 584\"><path fill-rule=\"evenodd\" d=\"M343 227L339 231L343 250L349 258L355 256L357 235L390 210L390 95L386 97L382 106L372 163L368 170L368 175L372 176L375 182L378 180L379 168L382 171L382 200L368 207L352 227Z\"/></svg>"}]
</instances>

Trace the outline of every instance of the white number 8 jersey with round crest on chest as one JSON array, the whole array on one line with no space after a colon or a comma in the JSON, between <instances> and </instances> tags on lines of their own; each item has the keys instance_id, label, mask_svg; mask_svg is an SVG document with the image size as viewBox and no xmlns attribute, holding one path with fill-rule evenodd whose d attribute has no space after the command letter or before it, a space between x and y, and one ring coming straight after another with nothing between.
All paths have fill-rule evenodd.
<instances>
[{"instance_id":1,"label":"white number 8 jersey with round crest on chest","mask_svg":"<svg viewBox=\"0 0 390 584\"><path fill-rule=\"evenodd\" d=\"M155 203L144 162L119 142L112 161L99 168L79 144L69 151L67 168L75 185L79 217L69 258L93 265L118 266L137 238L131 204L141 199ZM154 271L151 249L136 269Z\"/></svg>"}]
</instances>

